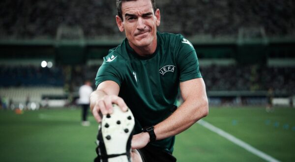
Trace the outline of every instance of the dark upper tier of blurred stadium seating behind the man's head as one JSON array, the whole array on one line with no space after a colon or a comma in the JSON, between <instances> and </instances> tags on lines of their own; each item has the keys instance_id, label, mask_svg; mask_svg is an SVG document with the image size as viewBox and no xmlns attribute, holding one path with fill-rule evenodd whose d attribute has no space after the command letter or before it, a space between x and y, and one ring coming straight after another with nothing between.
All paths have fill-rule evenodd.
<instances>
[{"instance_id":1,"label":"dark upper tier of blurred stadium seating behind the man's head","mask_svg":"<svg viewBox=\"0 0 295 162\"><path fill-rule=\"evenodd\" d=\"M240 27L264 27L268 36L295 34L294 0L158 0L157 3L163 17L160 31L185 36L237 37ZM115 0L3 0L0 37L55 38L60 25L81 26L87 38L119 35L114 6Z\"/></svg>"}]
</instances>

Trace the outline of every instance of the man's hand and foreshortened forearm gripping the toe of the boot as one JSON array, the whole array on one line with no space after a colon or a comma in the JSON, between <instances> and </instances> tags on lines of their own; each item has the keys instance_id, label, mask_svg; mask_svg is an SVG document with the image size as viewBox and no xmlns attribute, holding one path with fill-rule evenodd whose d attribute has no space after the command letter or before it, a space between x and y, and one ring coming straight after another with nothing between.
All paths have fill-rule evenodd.
<instances>
[{"instance_id":1,"label":"man's hand and foreshortened forearm gripping the toe of the boot","mask_svg":"<svg viewBox=\"0 0 295 162\"><path fill-rule=\"evenodd\" d=\"M113 113L112 104L117 104L123 111L127 106L122 98L118 97L120 87L115 81L101 82L90 95L90 109L97 122L101 122L99 112L103 115Z\"/></svg>"}]
</instances>

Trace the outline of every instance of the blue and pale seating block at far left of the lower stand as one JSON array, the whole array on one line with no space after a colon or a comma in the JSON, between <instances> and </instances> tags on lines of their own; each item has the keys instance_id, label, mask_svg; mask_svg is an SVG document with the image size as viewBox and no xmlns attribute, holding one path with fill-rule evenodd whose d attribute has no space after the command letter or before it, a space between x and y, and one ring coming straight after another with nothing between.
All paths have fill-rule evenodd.
<instances>
[{"instance_id":1,"label":"blue and pale seating block at far left of the lower stand","mask_svg":"<svg viewBox=\"0 0 295 162\"><path fill-rule=\"evenodd\" d=\"M65 94L62 69L59 67L0 65L0 78L0 96L5 97L7 105L13 107L28 102L27 104L34 103L39 108L46 96Z\"/></svg>"}]
</instances>

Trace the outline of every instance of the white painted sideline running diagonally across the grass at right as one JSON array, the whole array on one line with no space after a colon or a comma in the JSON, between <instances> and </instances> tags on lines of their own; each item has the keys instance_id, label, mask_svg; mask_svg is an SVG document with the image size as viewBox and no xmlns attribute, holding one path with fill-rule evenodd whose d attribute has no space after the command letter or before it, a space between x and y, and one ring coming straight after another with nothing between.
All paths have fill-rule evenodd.
<instances>
[{"instance_id":1,"label":"white painted sideline running diagonally across the grass at right","mask_svg":"<svg viewBox=\"0 0 295 162\"><path fill-rule=\"evenodd\" d=\"M229 141L234 142L236 145L244 148L245 150L251 152L254 155L257 155L258 157L266 160L267 162L280 162L277 159L267 155L266 153L254 148L253 146L249 145L248 143L236 138L233 135L230 135L229 133L213 126L212 124L206 122L205 120L199 120L198 123L202 126L204 126L205 128L207 128L208 130L217 133L218 135L221 135L223 137L225 137L226 139L228 139Z\"/></svg>"}]
</instances>

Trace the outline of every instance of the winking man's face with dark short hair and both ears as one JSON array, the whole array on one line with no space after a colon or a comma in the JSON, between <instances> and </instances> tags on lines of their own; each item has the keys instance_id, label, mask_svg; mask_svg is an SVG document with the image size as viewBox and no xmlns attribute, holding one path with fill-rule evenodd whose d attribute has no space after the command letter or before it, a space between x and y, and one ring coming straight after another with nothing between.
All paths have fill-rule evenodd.
<instances>
[{"instance_id":1,"label":"winking man's face with dark short hair and both ears","mask_svg":"<svg viewBox=\"0 0 295 162\"><path fill-rule=\"evenodd\" d=\"M125 31L131 47L147 47L156 40L157 26L160 25L160 11L153 12L150 0L132 0L122 2L122 17L118 16L120 31Z\"/></svg>"}]
</instances>

